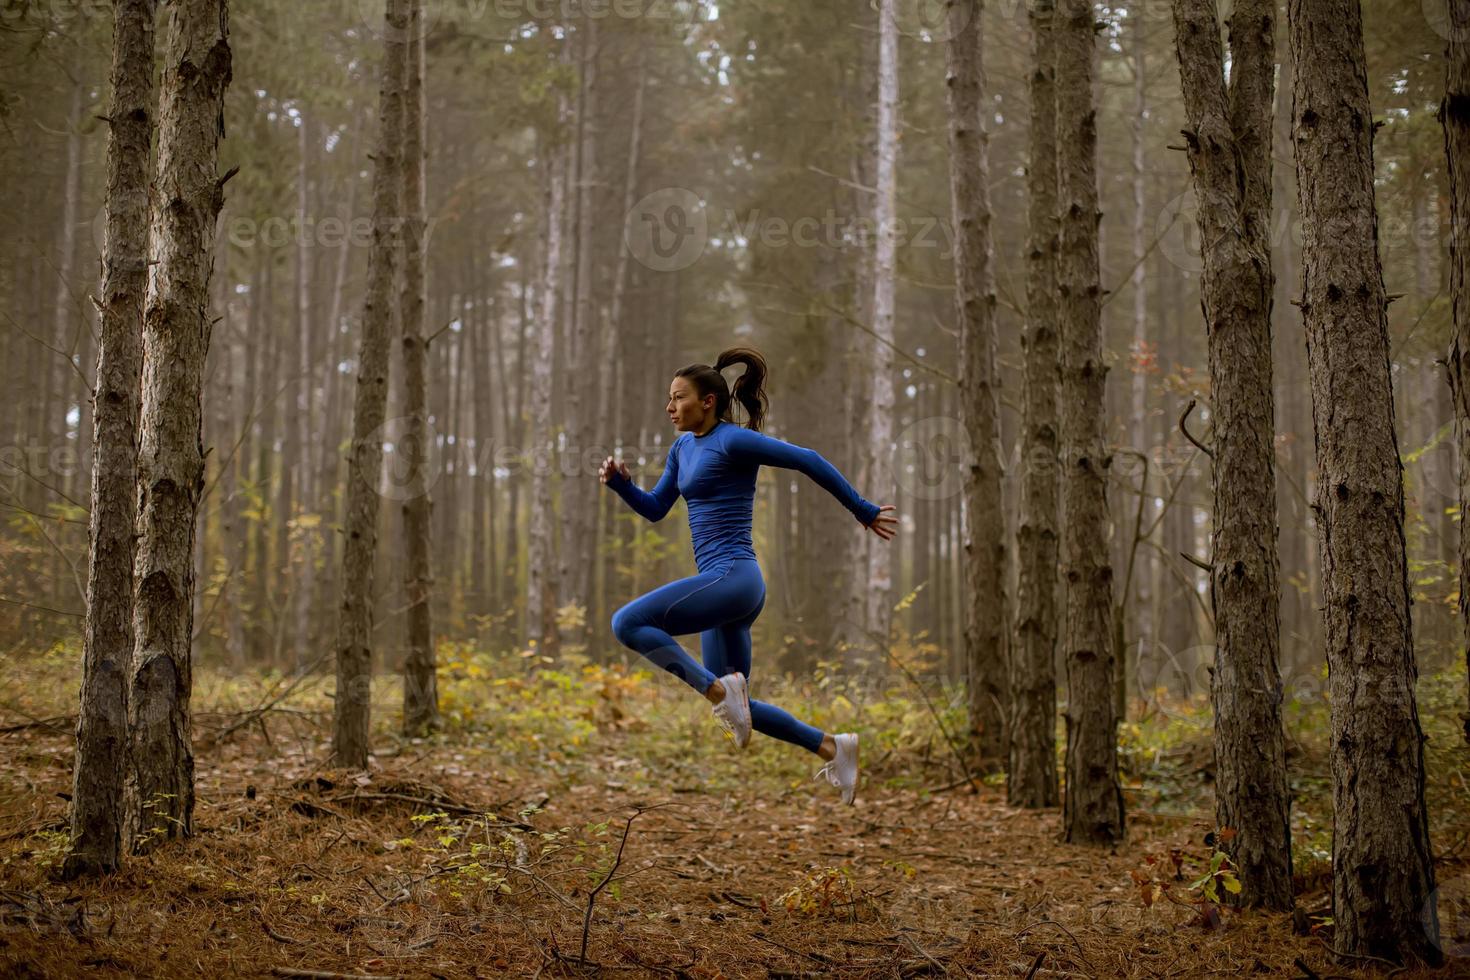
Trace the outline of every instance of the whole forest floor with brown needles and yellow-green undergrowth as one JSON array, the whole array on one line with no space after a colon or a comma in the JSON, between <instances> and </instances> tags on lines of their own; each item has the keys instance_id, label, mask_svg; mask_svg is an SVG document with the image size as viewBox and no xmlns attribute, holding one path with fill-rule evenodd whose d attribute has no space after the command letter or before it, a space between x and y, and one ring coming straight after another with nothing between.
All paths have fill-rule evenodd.
<instances>
[{"instance_id":1,"label":"whole forest floor with brown needles and yellow-green undergrowth","mask_svg":"<svg viewBox=\"0 0 1470 980\"><path fill-rule=\"evenodd\" d=\"M816 757L759 735L738 754L666 679L469 655L429 739L391 735L397 685L378 685L368 771L319 764L329 676L196 674L193 837L59 883L76 689L59 664L7 667L0 691L6 977L1394 973L1326 948L1330 793L1320 741L1294 732L1307 716L1288 713L1298 934L1189 887L1213 802L1208 727L1188 713L1123 726L1127 840L1095 849L1058 840L1058 808L954 785L933 738L947 716L903 696L785 688L864 732L848 808L811 779ZM1470 754L1441 738L1451 707L1421 707L1446 965L1398 977L1470 976Z\"/></svg>"}]
</instances>

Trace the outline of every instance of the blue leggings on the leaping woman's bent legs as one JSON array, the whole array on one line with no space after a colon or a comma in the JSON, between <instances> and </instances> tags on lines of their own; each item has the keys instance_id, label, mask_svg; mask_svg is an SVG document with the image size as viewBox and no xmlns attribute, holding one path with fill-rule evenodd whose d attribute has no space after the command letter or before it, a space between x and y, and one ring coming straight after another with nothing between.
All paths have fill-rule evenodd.
<instances>
[{"instance_id":1,"label":"blue leggings on the leaping woman's bent legs","mask_svg":"<svg viewBox=\"0 0 1470 980\"><path fill-rule=\"evenodd\" d=\"M725 674L750 677L750 626L764 605L760 566L754 558L735 558L638 597L613 613L613 635L703 695ZM688 633L700 633L703 664L673 639ZM822 729L773 704L751 698L750 714L757 732L811 752L822 746Z\"/></svg>"}]
</instances>

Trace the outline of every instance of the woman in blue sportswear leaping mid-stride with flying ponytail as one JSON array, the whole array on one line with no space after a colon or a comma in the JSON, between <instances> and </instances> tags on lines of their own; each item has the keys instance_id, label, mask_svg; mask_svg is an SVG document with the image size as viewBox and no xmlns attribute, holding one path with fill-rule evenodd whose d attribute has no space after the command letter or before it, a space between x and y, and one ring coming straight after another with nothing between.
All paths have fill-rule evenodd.
<instances>
[{"instance_id":1,"label":"woman in blue sportswear leaping mid-stride with flying ponytail","mask_svg":"<svg viewBox=\"0 0 1470 980\"><path fill-rule=\"evenodd\" d=\"M732 364L745 364L734 395L720 375ZM653 492L634 483L622 461L603 461L603 483L647 520L662 520L675 498L684 497L698 569L698 574L663 585L617 610L613 633L704 695L736 746L745 748L754 727L820 755L826 765L817 777L826 776L842 790L842 802L851 804L857 790L857 735L828 735L773 704L750 699L750 627L766 604L766 582L750 535L756 475L763 464L801 470L885 541L894 536L898 519L882 513L894 510L892 504L879 507L863 500L816 451L761 435L764 381L766 360L748 347L726 350L713 367L691 364L675 373L667 411L684 435L669 447ZM748 428L731 419L732 400L745 408ZM688 633L700 633L703 664L673 639Z\"/></svg>"}]
</instances>

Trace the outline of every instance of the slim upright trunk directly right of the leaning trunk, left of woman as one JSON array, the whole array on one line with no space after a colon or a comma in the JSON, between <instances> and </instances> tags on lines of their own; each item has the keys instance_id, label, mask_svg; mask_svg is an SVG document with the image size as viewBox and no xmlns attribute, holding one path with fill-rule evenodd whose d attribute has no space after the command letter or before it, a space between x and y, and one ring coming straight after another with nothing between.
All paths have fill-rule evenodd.
<instances>
[{"instance_id":1,"label":"slim upright trunk directly right of the leaning trunk, left of woman","mask_svg":"<svg viewBox=\"0 0 1470 980\"><path fill-rule=\"evenodd\" d=\"M403 591L407 598L407 654L403 663L403 733L426 735L440 721L434 669L434 629L429 595L429 527L432 500L428 470L429 417L423 338L425 303L425 188L423 188L423 0L409 0L409 78L404 96L403 206L407 237L403 253L403 411L407 419L398 451L409 454L412 483L403 502ZM457 442L456 442L457 445ZM400 461L400 466L403 463Z\"/></svg>"}]
</instances>

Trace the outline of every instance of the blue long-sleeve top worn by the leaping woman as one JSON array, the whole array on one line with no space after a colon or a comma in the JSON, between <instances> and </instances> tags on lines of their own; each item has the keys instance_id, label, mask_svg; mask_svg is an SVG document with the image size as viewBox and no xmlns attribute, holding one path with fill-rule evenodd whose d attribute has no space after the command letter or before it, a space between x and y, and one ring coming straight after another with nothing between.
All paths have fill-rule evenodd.
<instances>
[{"instance_id":1,"label":"blue long-sleeve top worn by the leaping woman","mask_svg":"<svg viewBox=\"0 0 1470 980\"><path fill-rule=\"evenodd\" d=\"M879 513L878 504L853 489L816 450L782 442L732 422L716 422L704 435L685 432L675 439L663 476L651 492L617 470L609 476L607 486L647 520L662 520L675 498L682 495L689 510L694 564L700 572L709 572L735 558L756 557L750 527L756 476L761 464L806 473L864 526L873 523Z\"/></svg>"}]
</instances>

